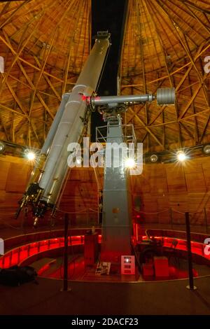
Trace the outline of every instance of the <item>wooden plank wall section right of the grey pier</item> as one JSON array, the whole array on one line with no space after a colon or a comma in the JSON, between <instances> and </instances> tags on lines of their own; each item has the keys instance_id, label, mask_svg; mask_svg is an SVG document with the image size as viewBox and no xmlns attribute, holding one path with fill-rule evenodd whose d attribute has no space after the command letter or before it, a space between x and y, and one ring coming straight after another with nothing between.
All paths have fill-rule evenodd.
<instances>
[{"instance_id":1,"label":"wooden plank wall section right of the grey pier","mask_svg":"<svg viewBox=\"0 0 210 329\"><path fill-rule=\"evenodd\" d=\"M144 165L140 176L131 177L133 198L141 197L141 211L149 223L184 223L180 212L190 211L191 223L210 224L210 158L196 158L184 163ZM204 210L205 209L205 210ZM179 212L176 212L179 211ZM206 211L206 214L205 214Z\"/></svg>"}]
</instances>

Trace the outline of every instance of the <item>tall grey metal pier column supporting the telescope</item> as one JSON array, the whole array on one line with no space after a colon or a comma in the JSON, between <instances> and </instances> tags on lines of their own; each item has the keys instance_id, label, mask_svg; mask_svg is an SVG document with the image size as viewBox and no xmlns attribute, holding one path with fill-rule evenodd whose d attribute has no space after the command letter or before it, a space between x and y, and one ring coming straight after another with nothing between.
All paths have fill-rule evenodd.
<instances>
[{"instance_id":1,"label":"tall grey metal pier column supporting the telescope","mask_svg":"<svg viewBox=\"0 0 210 329\"><path fill-rule=\"evenodd\" d=\"M108 121L107 143L123 143L121 118L118 124ZM104 166L103 221L102 221L102 251L101 260L120 263L121 255L131 254L131 209L128 172L124 161L119 167Z\"/></svg>"}]
</instances>

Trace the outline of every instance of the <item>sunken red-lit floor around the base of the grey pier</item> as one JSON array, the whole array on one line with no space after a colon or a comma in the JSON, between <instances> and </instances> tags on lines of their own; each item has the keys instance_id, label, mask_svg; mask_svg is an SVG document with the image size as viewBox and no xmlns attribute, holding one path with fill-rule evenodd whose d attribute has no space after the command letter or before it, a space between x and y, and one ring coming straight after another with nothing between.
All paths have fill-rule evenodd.
<instances>
[{"instance_id":1,"label":"sunken red-lit floor around the base of the grey pier","mask_svg":"<svg viewBox=\"0 0 210 329\"><path fill-rule=\"evenodd\" d=\"M38 276L48 279L63 279L64 265L63 258L43 258L31 263L38 273ZM135 275L120 274L120 268L111 265L109 274L96 274L97 263L92 266L85 266L83 254L69 255L68 279L70 281L98 281L98 282L142 282L142 281L164 281L188 278L188 261L172 257L169 259L169 276L155 275L144 276L136 267ZM193 262L193 275L210 275L208 265L196 264Z\"/></svg>"}]
</instances>

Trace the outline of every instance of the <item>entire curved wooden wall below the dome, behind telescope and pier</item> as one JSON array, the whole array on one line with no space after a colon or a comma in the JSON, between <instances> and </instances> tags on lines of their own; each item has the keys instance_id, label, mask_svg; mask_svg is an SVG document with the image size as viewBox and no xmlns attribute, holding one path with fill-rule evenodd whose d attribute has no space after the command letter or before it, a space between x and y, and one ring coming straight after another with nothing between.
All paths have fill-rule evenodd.
<instances>
[{"instance_id":1,"label":"entire curved wooden wall below the dome, behind telescope and pier","mask_svg":"<svg viewBox=\"0 0 210 329\"><path fill-rule=\"evenodd\" d=\"M15 223L13 214L18 200L25 191L31 166L27 160L0 157L0 220ZM102 169L97 172L99 182L103 183ZM210 225L210 158L196 158L184 164L144 165L143 173L131 176L132 200L141 198L141 214L146 223L184 223L183 214L176 211L199 211L192 214L195 225ZM60 208L71 211L73 223L97 221L98 193L92 168L72 169L66 182ZM134 208L134 206L133 206ZM166 211L165 211L166 209ZM204 212L204 209L206 213ZM172 211L172 212L171 212ZM134 214L135 213L134 211Z\"/></svg>"}]
</instances>

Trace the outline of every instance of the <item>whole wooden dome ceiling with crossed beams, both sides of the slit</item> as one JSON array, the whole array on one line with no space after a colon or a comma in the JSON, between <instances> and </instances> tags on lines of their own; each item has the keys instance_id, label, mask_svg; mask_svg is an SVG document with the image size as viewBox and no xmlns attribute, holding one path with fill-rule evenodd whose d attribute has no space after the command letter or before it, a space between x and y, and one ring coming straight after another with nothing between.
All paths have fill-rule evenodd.
<instances>
[{"instance_id":1,"label":"whole wooden dome ceiling with crossed beams, both sides of the slit","mask_svg":"<svg viewBox=\"0 0 210 329\"><path fill-rule=\"evenodd\" d=\"M129 0L119 69L122 94L176 87L176 106L128 109L146 151L210 140L209 1ZM0 139L41 147L62 94L90 51L91 0L0 3ZM114 42L114 40L113 40ZM108 59L109 60L109 59Z\"/></svg>"}]
</instances>

